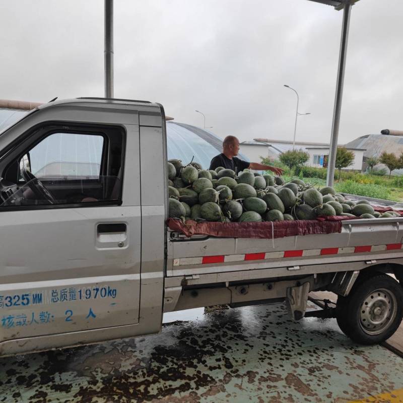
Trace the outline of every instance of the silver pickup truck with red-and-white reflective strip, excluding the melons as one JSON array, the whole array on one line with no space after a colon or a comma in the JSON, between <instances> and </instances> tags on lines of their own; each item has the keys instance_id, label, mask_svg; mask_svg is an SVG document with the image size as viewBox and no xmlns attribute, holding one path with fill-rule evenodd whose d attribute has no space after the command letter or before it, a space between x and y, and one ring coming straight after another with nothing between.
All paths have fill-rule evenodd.
<instances>
[{"instance_id":1,"label":"silver pickup truck with red-and-white reflective strip, excluding the melons","mask_svg":"<svg viewBox=\"0 0 403 403\"><path fill-rule=\"evenodd\" d=\"M401 218L276 239L168 230L159 104L80 98L42 105L0 133L0 355L156 333L163 312L338 294L355 341L402 318ZM35 175L33 174L35 173ZM312 313L308 312L312 315Z\"/></svg>"}]
</instances>

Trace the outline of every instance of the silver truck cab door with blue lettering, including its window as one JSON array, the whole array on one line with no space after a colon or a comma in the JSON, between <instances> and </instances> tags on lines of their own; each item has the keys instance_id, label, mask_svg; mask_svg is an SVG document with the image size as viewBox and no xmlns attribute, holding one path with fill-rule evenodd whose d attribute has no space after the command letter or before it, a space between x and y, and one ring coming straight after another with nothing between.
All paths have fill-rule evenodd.
<instances>
[{"instance_id":1,"label":"silver truck cab door with blue lettering, including its window","mask_svg":"<svg viewBox=\"0 0 403 403\"><path fill-rule=\"evenodd\" d=\"M42 124L0 155L0 355L139 322L138 127Z\"/></svg>"}]
</instances>

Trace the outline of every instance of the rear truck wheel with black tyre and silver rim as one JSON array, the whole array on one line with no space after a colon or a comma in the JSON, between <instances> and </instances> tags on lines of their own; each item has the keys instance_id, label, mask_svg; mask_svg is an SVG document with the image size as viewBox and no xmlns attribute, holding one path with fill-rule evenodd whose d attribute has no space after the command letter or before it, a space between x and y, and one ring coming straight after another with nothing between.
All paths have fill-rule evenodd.
<instances>
[{"instance_id":1,"label":"rear truck wheel with black tyre and silver rim","mask_svg":"<svg viewBox=\"0 0 403 403\"><path fill-rule=\"evenodd\" d=\"M350 339L378 344L388 339L403 317L403 289L385 274L358 282L347 297L338 298L337 322Z\"/></svg>"}]
</instances>

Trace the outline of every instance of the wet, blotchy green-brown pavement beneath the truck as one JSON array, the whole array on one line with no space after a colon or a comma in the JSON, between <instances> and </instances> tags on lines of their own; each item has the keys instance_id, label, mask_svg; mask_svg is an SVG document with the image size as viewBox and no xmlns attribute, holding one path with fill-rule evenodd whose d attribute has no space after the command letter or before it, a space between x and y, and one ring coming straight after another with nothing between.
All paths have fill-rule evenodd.
<instances>
[{"instance_id":1,"label":"wet, blotchy green-brown pavement beneath the truck","mask_svg":"<svg viewBox=\"0 0 403 403\"><path fill-rule=\"evenodd\" d=\"M282 304L177 317L158 335L0 359L0 402L402 401L403 359L334 319L297 323Z\"/></svg>"}]
</instances>

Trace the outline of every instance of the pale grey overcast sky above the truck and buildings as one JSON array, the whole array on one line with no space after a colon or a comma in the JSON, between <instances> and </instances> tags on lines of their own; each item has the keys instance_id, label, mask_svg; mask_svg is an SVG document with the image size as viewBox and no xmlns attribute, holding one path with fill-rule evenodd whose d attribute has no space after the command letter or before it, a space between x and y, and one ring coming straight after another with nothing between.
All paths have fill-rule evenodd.
<instances>
[{"instance_id":1,"label":"pale grey overcast sky above the truck and buildings","mask_svg":"<svg viewBox=\"0 0 403 403\"><path fill-rule=\"evenodd\" d=\"M104 96L102 0L2 0L0 98ZM114 95L218 136L329 141L343 12L307 0L115 0ZM402 0L353 6L339 143L403 129Z\"/></svg>"}]
</instances>

